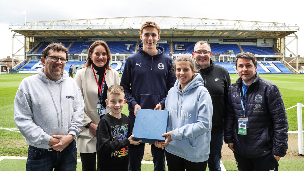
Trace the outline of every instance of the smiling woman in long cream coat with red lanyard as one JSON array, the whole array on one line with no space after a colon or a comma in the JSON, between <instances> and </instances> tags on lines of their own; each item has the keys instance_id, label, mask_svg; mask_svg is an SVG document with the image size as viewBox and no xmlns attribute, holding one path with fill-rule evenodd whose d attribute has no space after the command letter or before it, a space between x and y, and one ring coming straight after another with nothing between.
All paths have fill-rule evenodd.
<instances>
[{"instance_id":1,"label":"smiling woman in long cream coat with red lanyard","mask_svg":"<svg viewBox=\"0 0 304 171\"><path fill-rule=\"evenodd\" d=\"M98 50L98 48L102 50ZM96 74L97 70L95 67L106 65L107 69L105 74L105 82L107 84L107 87L110 87L114 84L120 84L119 74L116 70L111 70L109 67L110 61L111 53L107 44L103 41L96 41L88 50L88 59L84 68L78 70L77 74L75 75L75 81L81 90L85 104L83 129L79 136L76 138L77 151L81 153L80 156L82 158L83 171L96 169L96 137L88 128L85 128L85 126L91 121L93 122L93 125L95 124L97 127L100 120L100 116L97 115L98 86L93 73L92 63L94 63L94 72L97 80L99 78L99 75ZM105 91L104 93L107 92ZM102 100L104 101L105 99ZM111 112L110 108L106 107L105 113L109 112Z\"/></svg>"}]
</instances>

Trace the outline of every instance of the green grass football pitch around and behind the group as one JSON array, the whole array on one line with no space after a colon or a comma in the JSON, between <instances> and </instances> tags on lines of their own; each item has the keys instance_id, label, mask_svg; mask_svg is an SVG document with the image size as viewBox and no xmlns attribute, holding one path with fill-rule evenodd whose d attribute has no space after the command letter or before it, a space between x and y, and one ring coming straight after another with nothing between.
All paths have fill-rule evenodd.
<instances>
[{"instance_id":1,"label":"green grass football pitch around and behind the group","mask_svg":"<svg viewBox=\"0 0 304 171\"><path fill-rule=\"evenodd\" d=\"M17 128L14 122L14 98L23 78L34 74L0 74L0 127ZM75 76L75 75L74 75ZM73 78L74 78L73 76ZM275 83L283 96L285 108L292 107L301 102L304 104L304 75L302 74L260 74L261 77ZM121 77L121 74L120 74ZM237 74L230 74L231 82L235 82L239 77ZM18 104L22 106L22 104ZM122 113L128 115L128 105L123 108ZM303 113L304 115L304 113ZM287 110L289 130L297 130L297 107ZM303 117L304 119L304 117ZM304 127L304 124L303 124ZM0 130L0 156L27 156L28 145L20 133ZM0 171L7 170L24 170L26 160L3 159L0 161ZM237 170L235 161L223 161L226 170ZM282 159L279 162L280 170L298 170L304 168L303 159ZM78 162L78 170L81 170L81 164ZM18 169L19 168L19 169ZM143 170L153 170L152 164L143 164Z\"/></svg>"}]
</instances>

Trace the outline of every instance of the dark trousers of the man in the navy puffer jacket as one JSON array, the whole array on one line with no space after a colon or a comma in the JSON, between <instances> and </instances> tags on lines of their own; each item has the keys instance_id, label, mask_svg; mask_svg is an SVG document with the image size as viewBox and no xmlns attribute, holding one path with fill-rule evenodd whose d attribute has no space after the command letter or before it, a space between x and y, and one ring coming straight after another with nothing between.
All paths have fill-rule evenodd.
<instances>
[{"instance_id":1,"label":"dark trousers of the man in the navy puffer jacket","mask_svg":"<svg viewBox=\"0 0 304 171\"><path fill-rule=\"evenodd\" d=\"M233 153L239 171L278 171L279 163L272 153L257 158L244 157L235 151Z\"/></svg>"}]
</instances>

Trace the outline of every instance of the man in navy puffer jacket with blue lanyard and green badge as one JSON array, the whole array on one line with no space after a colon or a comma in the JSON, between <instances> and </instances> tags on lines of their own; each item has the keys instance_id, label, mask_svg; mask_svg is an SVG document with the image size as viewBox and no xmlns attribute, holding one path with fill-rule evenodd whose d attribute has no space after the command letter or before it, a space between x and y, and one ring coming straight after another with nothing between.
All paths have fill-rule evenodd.
<instances>
[{"instance_id":1,"label":"man in navy puffer jacket with blue lanyard and green badge","mask_svg":"<svg viewBox=\"0 0 304 171\"><path fill-rule=\"evenodd\" d=\"M240 78L228 91L225 143L234 152L240 171L278 170L278 160L288 148L289 127L282 95L275 84L256 73L253 54L238 54L235 66Z\"/></svg>"}]
</instances>

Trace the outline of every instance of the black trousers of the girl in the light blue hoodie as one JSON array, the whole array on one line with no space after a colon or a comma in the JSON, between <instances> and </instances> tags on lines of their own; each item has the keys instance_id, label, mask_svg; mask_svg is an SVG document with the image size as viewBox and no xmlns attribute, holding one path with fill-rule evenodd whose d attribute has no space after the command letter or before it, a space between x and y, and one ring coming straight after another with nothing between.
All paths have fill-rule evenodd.
<instances>
[{"instance_id":1,"label":"black trousers of the girl in the light blue hoodie","mask_svg":"<svg viewBox=\"0 0 304 171\"><path fill-rule=\"evenodd\" d=\"M177 155L171 154L165 150L167 165L169 171L206 171L208 160L195 163L189 160L178 157Z\"/></svg>"}]
</instances>

